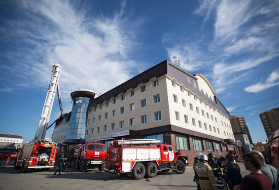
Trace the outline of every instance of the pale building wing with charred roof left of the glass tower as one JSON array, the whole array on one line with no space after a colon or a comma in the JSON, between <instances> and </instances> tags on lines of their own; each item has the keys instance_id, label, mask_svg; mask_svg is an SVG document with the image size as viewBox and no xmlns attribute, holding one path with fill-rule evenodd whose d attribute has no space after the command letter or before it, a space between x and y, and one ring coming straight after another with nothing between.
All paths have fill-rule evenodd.
<instances>
[{"instance_id":1,"label":"pale building wing with charred roof left of the glass tower","mask_svg":"<svg viewBox=\"0 0 279 190\"><path fill-rule=\"evenodd\" d=\"M70 118L71 112L63 113L62 116L55 121L55 127L51 136L54 142L63 143L66 140Z\"/></svg>"}]
</instances>

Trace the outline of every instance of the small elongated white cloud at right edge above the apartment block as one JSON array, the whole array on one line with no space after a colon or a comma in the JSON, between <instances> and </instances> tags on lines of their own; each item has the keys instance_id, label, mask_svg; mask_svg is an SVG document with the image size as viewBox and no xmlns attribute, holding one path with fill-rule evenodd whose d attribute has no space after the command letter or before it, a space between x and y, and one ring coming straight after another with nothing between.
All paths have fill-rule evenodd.
<instances>
[{"instance_id":1,"label":"small elongated white cloud at right edge above the apartment block","mask_svg":"<svg viewBox=\"0 0 279 190\"><path fill-rule=\"evenodd\" d=\"M244 90L246 92L258 93L269 89L271 87L279 85L279 70L275 70L270 73L269 77L264 82L259 82L255 85L246 87Z\"/></svg>"}]
</instances>

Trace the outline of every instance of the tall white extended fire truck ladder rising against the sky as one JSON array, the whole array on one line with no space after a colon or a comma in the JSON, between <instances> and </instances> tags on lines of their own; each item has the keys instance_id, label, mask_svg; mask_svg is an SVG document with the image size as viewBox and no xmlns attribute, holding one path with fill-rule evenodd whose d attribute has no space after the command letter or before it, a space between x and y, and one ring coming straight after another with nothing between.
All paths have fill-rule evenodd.
<instances>
[{"instance_id":1,"label":"tall white extended fire truck ladder rising against the sky","mask_svg":"<svg viewBox=\"0 0 279 190\"><path fill-rule=\"evenodd\" d=\"M39 123L39 128L38 128L33 140L44 139L46 136L46 131L47 131L47 127L48 127L48 122L49 122L49 118L50 118L50 113L51 113L56 89L58 91L57 95L58 95L59 106L60 106L60 110L61 110L61 100L60 100L59 87L58 87L58 81L59 81L59 77L60 77L61 68L62 67L58 63L53 63L53 65L52 65L52 77L50 80L47 97L46 97L46 100L44 103L41 120Z\"/></svg>"}]
</instances>

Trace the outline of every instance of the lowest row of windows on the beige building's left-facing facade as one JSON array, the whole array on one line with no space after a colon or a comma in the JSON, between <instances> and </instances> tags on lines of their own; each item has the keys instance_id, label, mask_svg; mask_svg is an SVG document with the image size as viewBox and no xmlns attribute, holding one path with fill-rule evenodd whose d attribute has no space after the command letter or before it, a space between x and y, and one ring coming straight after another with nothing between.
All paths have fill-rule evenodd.
<instances>
[{"instance_id":1,"label":"lowest row of windows on the beige building's left-facing facade","mask_svg":"<svg viewBox=\"0 0 279 190\"><path fill-rule=\"evenodd\" d=\"M153 116L154 116L154 121L160 121L162 120L162 113L161 113L161 110L158 110L158 111L155 111L153 112ZM140 123L141 124L147 124L147 115L142 115L140 117ZM134 126L135 125L135 118L129 118L129 123L128 123L129 127L131 126ZM118 128L119 129L122 129L124 128L124 120L122 121L119 121L119 125L118 125ZM108 130L108 127L107 125L104 125L103 128L102 128L102 131L103 132L106 132ZM115 130L115 123L111 123L111 130ZM96 132L94 132L94 128L91 129L91 134L94 134L94 133L100 133L100 127L97 127L96 128ZM86 135L88 135L88 130L86 130Z\"/></svg>"}]
</instances>

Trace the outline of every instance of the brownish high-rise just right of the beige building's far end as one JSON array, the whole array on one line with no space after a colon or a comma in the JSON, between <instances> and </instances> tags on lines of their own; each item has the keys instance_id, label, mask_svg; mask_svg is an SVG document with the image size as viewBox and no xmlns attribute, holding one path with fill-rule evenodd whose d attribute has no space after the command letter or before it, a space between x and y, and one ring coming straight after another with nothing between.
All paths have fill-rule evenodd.
<instances>
[{"instance_id":1,"label":"brownish high-rise just right of the beige building's far end","mask_svg":"<svg viewBox=\"0 0 279 190\"><path fill-rule=\"evenodd\" d=\"M244 117L231 116L230 123L235 140L241 142L245 154L248 154L253 148L253 141Z\"/></svg>"}]
</instances>

